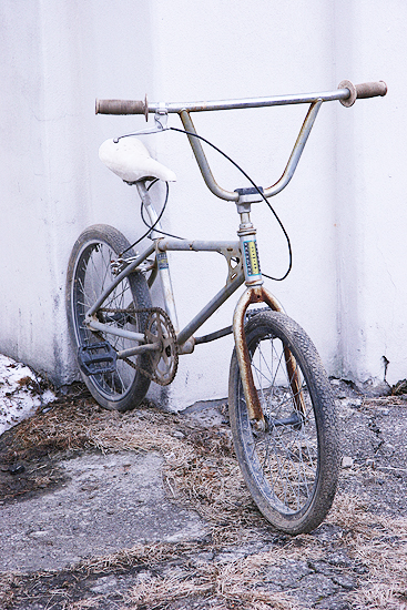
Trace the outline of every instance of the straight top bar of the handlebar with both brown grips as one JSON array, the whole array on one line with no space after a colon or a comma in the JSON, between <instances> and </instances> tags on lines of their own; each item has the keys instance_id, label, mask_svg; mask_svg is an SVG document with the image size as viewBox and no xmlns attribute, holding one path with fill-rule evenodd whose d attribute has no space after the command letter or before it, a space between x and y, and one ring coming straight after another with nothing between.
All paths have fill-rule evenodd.
<instances>
[{"instance_id":1,"label":"straight top bar of the handlebar with both brown grips","mask_svg":"<svg viewBox=\"0 0 407 610\"><path fill-rule=\"evenodd\" d=\"M213 102L187 102L187 103L147 103L147 99L142 100L96 100L96 114L144 114L147 119L149 113L159 112L161 109L165 112L180 113L183 110L187 112L204 112L210 110L232 110L243 108L262 108L272 105L287 105L313 103L317 100L329 102L339 100L345 106L350 106L356 99L376 98L386 95L387 85L384 81L353 84L350 81L342 81L335 91L320 93L306 93L299 95L278 95L273 98L247 98L244 100L224 100Z\"/></svg>"}]
</instances>

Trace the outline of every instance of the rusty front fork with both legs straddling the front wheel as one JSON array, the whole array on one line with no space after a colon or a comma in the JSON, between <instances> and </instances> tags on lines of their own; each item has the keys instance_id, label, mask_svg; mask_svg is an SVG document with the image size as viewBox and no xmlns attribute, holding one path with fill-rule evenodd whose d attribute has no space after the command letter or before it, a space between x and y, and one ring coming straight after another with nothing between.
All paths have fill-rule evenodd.
<instances>
[{"instance_id":1,"label":"rusty front fork with both legs straddling the front wheel","mask_svg":"<svg viewBox=\"0 0 407 610\"><path fill-rule=\"evenodd\" d=\"M242 295L236 305L233 316L233 334L235 338L236 355L243 384L244 397L247 405L248 418L251 421L254 421L254 425L258 430L264 431L266 429L266 423L264 419L262 406L260 404L258 394L254 385L251 357L248 354L246 336L244 332L244 314L248 305L253 303L266 303L268 307L274 312L281 312L281 307L273 295L269 294L263 286L253 286L248 287L247 291ZM296 407L303 415L305 415L305 403L301 389L301 382L298 377L296 362L286 346L284 347L284 357L287 367L289 385L294 395Z\"/></svg>"}]
</instances>

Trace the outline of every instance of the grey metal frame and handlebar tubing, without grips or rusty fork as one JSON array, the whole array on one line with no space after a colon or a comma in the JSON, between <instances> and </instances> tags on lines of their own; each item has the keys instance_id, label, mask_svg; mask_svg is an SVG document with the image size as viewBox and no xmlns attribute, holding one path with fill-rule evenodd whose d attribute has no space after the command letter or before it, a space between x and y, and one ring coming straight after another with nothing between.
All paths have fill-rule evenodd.
<instances>
[{"instance_id":1,"label":"grey metal frame and handlebar tubing, without grips or rusty fork","mask_svg":"<svg viewBox=\"0 0 407 610\"><path fill-rule=\"evenodd\" d=\"M109 325L104 325L98 322L95 313L110 293L115 288L115 286L130 273L140 268L142 263L144 263L149 256L154 252L159 265L159 275L161 277L161 283L163 287L163 298L165 304L165 309L171 317L173 326L176 332L176 338L179 344L179 349L181 353L186 354L193 350L195 343L204 343L206 340L213 340L218 338L218 336L224 336L227 333L232 332L232 326L224 328L218 333L213 333L212 335L206 336L205 338L199 338L196 342L193 338L194 333L206 322L206 319L234 293L236 289L245 282L247 288L254 288L262 286L263 279L262 275L258 272L253 275L247 268L244 248L250 244L251 252L255 253L257 257L256 240L255 234L256 230L253 227L250 218L251 204L254 201L260 200L260 194L242 194L236 191L226 191L222 189L213 177L211 167L207 163L205 153L203 151L201 141L195 136L196 130L191 119L191 112L202 112L202 111L216 111L216 110L231 110L231 109L245 109L245 108L264 108L264 106L274 106L274 105L287 105L287 104L301 104L308 103L309 109L303 122L303 125L299 130L297 140L294 144L293 151L288 159L287 165L281 176L281 179L273 184L272 186L262 190L265 197L271 197L279 193L291 181L294 175L294 172L297 167L299 157L303 153L304 146L309 136L311 130L314 125L316 116L318 114L319 108L325 101L333 100L346 100L349 98L349 89L338 89L336 91L323 92L323 93L309 93L303 95L285 95L285 96L272 96L272 98L251 98L244 100L225 100L225 101L214 101L214 102L192 102L192 103L150 103L146 101L143 103L143 112L147 118L147 113L155 114L156 128L153 130L145 131L160 131L166 129L166 115L169 113L177 113L181 118L183 126L186 132L189 132L189 140L193 153L195 155L196 162L200 166L201 173L205 181L207 187L214 193L217 197L233 201L236 203L237 212L241 216L241 225L238 231L240 241L238 242L203 242L203 241L187 241L187 240L173 240L167 237L162 237L160 230L160 223L156 224L156 230L152 232L151 238L153 244L151 244L142 254L136 256L131 261L125 268L116 276L112 285L100 295L99 299L93 304L89 309L85 324L94 331L103 331L108 334L125 336L125 338L134 339L139 343L131 350L126 350L125 355L119 354L118 357L129 356L129 352L132 354L138 354L146 349L157 349L157 346L146 346L144 345L144 335L141 333L132 333L129 331L123 331L120 328L112 328ZM143 130L144 131L144 130ZM145 186L144 181L136 183L139 195L141 196L145 210L149 214L150 221L154 224L157 220L156 211L152 204L150 193ZM170 266L167 258L165 256L166 252L171 251L185 251L185 252L218 252L226 257L228 264L228 275L226 285L207 303L202 311L183 328L180 331L174 295L171 284ZM159 255L161 254L161 256ZM159 256L157 256L159 255ZM240 260L240 264L235 267L232 266L232 260ZM257 260L258 261L258 260ZM275 299L268 295L268 299L273 302L273 308L278 308ZM237 307L238 308L238 307Z\"/></svg>"}]
</instances>

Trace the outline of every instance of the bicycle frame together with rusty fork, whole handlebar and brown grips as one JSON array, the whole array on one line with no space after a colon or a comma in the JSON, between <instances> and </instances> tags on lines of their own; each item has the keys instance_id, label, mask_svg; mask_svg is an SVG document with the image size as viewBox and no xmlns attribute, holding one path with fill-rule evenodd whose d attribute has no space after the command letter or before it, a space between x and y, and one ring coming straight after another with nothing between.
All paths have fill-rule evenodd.
<instances>
[{"instance_id":1,"label":"bicycle frame together with rusty fork, whole handlebar and brown grips","mask_svg":"<svg viewBox=\"0 0 407 610\"><path fill-rule=\"evenodd\" d=\"M143 254L136 256L134 261L129 263L123 262L125 268L118 275L115 282L105 291L98 302L88 312L85 324L94 331L103 331L126 338L132 338L139 343L138 346L126 349L124 353L119 353L118 357L123 358L130 355L140 354L145 350L160 349L157 344L146 345L144 335L140 333L131 333L120 328L111 328L109 325L101 324L95 317L98 308L103 301L114 289L114 287L130 273L138 270L140 265L155 251L157 272L161 276L163 286L163 296L167 314L171 317L176 332L176 344L180 354L189 354L193 352L194 345L214 340L232 332L232 327L223 328L217 333L212 333L205 337L194 338L194 333L206 319L243 284L246 284L246 291L240 298L233 316L233 334L236 346L236 355L238 359L240 373L244 388L247 410L250 419L254 420L260 429L265 429L265 420L260 405L257 392L254 386L250 354L245 340L244 317L247 307L251 304L265 303L274 311L279 311L276 299L264 288L263 278L260 271L260 262L256 245L256 230L254 228L250 213L251 204L258 201L260 197L271 197L279 193L291 181L297 167L299 157L309 136L318 111L323 102L339 100L343 105L352 105L356 98L370 98L376 95L385 95L387 87L383 81L377 83L364 83L354 85L350 81L343 81L336 91L325 93L311 93L304 95L287 95L274 98L257 98L246 100L233 100L223 102L195 102L195 103L159 103L149 104L146 99L141 101L121 101L121 100L96 100L96 113L106 114L144 114L147 120L149 113L155 114L156 128L153 130L142 130L138 133L152 131L162 131L166 128L166 118L169 113L177 113L189 138L191 148L200 166L202 176L206 186L217 197L226 201L233 201L236 204L237 213L241 217L241 224L237 231L238 242L201 242L187 240L173 240L161 237L159 234L160 224L155 226L157 231L153 231L151 237L154 244L147 247ZM286 164L286 167L281 179L272 186L263 189L261 186L251 189L237 189L233 192L222 189L213 177L211 167L207 163L196 130L191 119L191 112L231 110L243 108L262 108L272 105L287 105L308 103L309 109L299 130L298 136L294 144L293 151ZM133 135L136 135L133 134ZM149 191L145 187L144 181L135 183L139 194L149 213L152 225L157 221L157 214L152 205ZM226 285L207 303L203 309L182 329L179 329L175 302L172 292L171 276L166 252L171 251L194 251L194 252L218 252L226 257L228 264L228 275ZM233 261L237 261L233 265ZM299 380L295 370L295 362L288 349L285 350L285 360L287 372L296 397L297 408L304 413L303 397L299 392Z\"/></svg>"}]
</instances>

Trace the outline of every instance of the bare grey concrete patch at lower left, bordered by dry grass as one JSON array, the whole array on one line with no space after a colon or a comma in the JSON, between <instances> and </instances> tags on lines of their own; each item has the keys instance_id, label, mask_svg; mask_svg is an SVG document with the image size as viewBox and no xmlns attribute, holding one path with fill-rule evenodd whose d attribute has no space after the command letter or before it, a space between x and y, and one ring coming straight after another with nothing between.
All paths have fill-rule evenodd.
<instances>
[{"instance_id":1,"label":"bare grey concrete patch at lower left, bordered by dry grass","mask_svg":"<svg viewBox=\"0 0 407 610\"><path fill-rule=\"evenodd\" d=\"M61 460L52 494L1 509L0 571L60 570L135 542L204 537L203 520L166 498L157 453L84 454Z\"/></svg>"}]
</instances>

